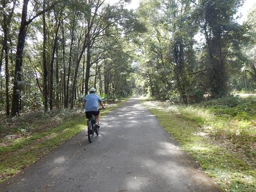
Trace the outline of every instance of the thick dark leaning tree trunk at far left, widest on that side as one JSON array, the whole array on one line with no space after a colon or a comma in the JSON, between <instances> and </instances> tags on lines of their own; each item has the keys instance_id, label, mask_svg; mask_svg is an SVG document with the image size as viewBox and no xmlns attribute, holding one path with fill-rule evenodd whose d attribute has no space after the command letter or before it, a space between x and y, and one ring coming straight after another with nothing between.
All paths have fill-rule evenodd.
<instances>
[{"instance_id":1,"label":"thick dark leaning tree trunk at far left, widest on that side","mask_svg":"<svg viewBox=\"0 0 256 192\"><path fill-rule=\"evenodd\" d=\"M20 31L18 36L17 52L16 52L16 63L14 71L14 82L13 82L13 95L12 95L12 116L19 114L19 98L20 98L20 87L21 87L21 67L22 67L22 55L26 39L26 20L27 20L27 9L28 1L23 1Z\"/></svg>"}]
</instances>

